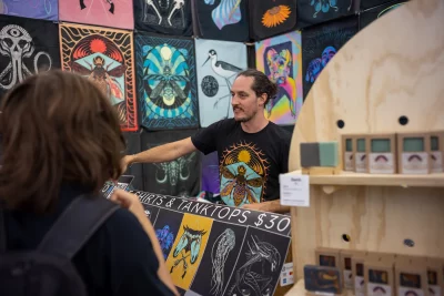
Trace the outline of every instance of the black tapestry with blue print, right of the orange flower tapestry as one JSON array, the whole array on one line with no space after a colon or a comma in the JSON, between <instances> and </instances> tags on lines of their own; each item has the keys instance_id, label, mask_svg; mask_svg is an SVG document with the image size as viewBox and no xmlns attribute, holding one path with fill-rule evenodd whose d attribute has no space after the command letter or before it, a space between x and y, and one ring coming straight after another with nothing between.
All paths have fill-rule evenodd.
<instances>
[{"instance_id":1,"label":"black tapestry with blue print, right of the orange flower tapestry","mask_svg":"<svg viewBox=\"0 0 444 296\"><path fill-rule=\"evenodd\" d=\"M297 0L297 29L351 16L356 0Z\"/></svg>"}]
</instances>

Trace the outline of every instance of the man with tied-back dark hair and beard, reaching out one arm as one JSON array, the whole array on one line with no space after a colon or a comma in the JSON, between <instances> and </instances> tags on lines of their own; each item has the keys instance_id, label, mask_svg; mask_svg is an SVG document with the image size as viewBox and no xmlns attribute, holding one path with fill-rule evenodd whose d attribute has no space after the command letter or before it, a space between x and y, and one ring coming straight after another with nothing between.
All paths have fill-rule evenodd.
<instances>
[{"instance_id":1,"label":"man with tied-back dark hair and beard, reaching out one arm","mask_svg":"<svg viewBox=\"0 0 444 296\"><path fill-rule=\"evenodd\" d=\"M191 137L157 146L122 160L170 162L193 151L218 151L220 193L226 205L286 213L280 204L279 175L289 171L291 133L265 119L264 108L278 92L275 83L253 69L238 74L231 89L234 118L200 130Z\"/></svg>"}]
</instances>

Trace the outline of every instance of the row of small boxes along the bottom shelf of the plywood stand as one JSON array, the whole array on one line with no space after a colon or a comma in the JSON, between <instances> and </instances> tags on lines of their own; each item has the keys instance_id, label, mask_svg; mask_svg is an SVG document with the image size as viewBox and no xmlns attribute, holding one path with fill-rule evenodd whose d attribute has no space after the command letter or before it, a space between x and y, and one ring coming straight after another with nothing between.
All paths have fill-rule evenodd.
<instances>
[{"instance_id":1,"label":"row of small boxes along the bottom shelf of the plywood stand","mask_svg":"<svg viewBox=\"0 0 444 296\"><path fill-rule=\"evenodd\" d=\"M444 258L317 248L304 267L305 289L355 296L442 296Z\"/></svg>"}]
</instances>

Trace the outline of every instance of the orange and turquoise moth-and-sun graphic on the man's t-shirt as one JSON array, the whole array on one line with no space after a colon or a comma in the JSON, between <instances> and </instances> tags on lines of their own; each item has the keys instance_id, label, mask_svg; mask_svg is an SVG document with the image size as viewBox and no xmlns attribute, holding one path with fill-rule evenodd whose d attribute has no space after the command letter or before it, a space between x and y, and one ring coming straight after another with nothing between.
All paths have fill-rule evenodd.
<instances>
[{"instance_id":1,"label":"orange and turquoise moth-and-sun graphic on the man's t-shirt","mask_svg":"<svg viewBox=\"0 0 444 296\"><path fill-rule=\"evenodd\" d=\"M265 191L269 162L252 143L226 149L221 157L221 197L226 205L260 203Z\"/></svg>"}]
</instances>

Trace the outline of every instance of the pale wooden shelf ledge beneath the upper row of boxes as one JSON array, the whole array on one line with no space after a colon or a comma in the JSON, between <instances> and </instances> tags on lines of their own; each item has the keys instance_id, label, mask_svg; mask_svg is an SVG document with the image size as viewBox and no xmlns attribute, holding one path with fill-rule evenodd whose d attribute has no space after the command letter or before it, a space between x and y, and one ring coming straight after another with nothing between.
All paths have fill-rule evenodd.
<instances>
[{"instance_id":1,"label":"pale wooden shelf ledge beneath the upper row of boxes","mask_svg":"<svg viewBox=\"0 0 444 296\"><path fill-rule=\"evenodd\" d=\"M301 171L291 174L301 175ZM401 187L444 187L444 173L428 175L376 175L341 172L336 175L310 175L312 185L362 185Z\"/></svg>"}]
</instances>

